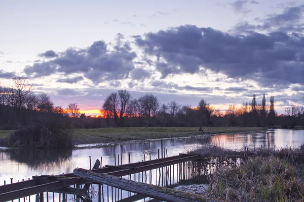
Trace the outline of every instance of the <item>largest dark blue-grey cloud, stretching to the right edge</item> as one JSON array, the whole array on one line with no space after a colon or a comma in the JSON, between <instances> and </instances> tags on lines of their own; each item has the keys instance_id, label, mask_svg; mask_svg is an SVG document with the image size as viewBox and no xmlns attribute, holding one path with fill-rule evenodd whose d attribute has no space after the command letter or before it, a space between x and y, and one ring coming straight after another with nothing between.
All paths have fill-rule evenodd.
<instances>
[{"instance_id":1,"label":"largest dark blue-grey cloud, stretching to the right edge","mask_svg":"<svg viewBox=\"0 0 304 202\"><path fill-rule=\"evenodd\" d=\"M173 27L135 37L146 56L156 57L162 78L168 74L204 73L253 79L261 86L304 83L304 37L284 32L230 34L194 25Z\"/></svg>"}]
</instances>

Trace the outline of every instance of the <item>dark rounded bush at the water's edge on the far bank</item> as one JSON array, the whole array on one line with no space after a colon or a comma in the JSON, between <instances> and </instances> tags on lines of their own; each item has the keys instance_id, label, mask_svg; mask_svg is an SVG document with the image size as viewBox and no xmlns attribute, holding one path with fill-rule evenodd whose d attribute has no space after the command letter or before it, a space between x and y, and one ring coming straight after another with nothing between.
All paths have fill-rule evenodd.
<instances>
[{"instance_id":1,"label":"dark rounded bush at the water's edge on the far bank","mask_svg":"<svg viewBox=\"0 0 304 202\"><path fill-rule=\"evenodd\" d=\"M14 147L66 148L73 147L73 127L64 119L44 120L22 126L9 136Z\"/></svg>"}]
</instances>

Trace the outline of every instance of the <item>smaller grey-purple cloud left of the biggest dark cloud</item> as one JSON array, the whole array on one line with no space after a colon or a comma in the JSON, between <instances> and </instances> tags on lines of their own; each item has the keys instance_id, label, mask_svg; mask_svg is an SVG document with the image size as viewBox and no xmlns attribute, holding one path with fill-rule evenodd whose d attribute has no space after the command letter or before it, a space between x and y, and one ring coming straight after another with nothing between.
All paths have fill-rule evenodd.
<instances>
[{"instance_id":1,"label":"smaller grey-purple cloud left of the biggest dark cloud","mask_svg":"<svg viewBox=\"0 0 304 202\"><path fill-rule=\"evenodd\" d=\"M54 73L83 73L85 78L95 84L105 80L128 78L129 72L135 67L136 58L123 35L118 34L113 50L104 41L95 41L87 48L68 48L60 56L49 61L26 66L24 72L29 77L43 77Z\"/></svg>"}]
</instances>

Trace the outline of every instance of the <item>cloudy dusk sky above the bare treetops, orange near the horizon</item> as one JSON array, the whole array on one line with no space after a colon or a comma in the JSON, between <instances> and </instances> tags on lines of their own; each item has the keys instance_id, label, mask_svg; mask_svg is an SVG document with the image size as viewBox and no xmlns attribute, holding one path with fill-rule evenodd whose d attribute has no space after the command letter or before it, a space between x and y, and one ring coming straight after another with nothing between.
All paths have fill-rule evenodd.
<instances>
[{"instance_id":1,"label":"cloudy dusk sky above the bare treetops, orange near the horizon","mask_svg":"<svg viewBox=\"0 0 304 202\"><path fill-rule=\"evenodd\" d=\"M0 0L0 82L87 115L118 89L216 109L304 100L304 0Z\"/></svg>"}]
</instances>

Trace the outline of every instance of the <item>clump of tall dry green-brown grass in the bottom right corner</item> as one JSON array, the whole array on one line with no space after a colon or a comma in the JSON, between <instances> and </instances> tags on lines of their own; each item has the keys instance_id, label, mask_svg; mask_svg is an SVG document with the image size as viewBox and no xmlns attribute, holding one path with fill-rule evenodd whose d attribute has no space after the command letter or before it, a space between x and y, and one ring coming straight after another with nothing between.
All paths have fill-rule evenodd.
<instances>
[{"instance_id":1,"label":"clump of tall dry green-brown grass in the bottom right corner","mask_svg":"<svg viewBox=\"0 0 304 202\"><path fill-rule=\"evenodd\" d=\"M208 195L228 201L304 201L303 169L304 158L290 149L251 157L234 168L220 166L210 177Z\"/></svg>"}]
</instances>

